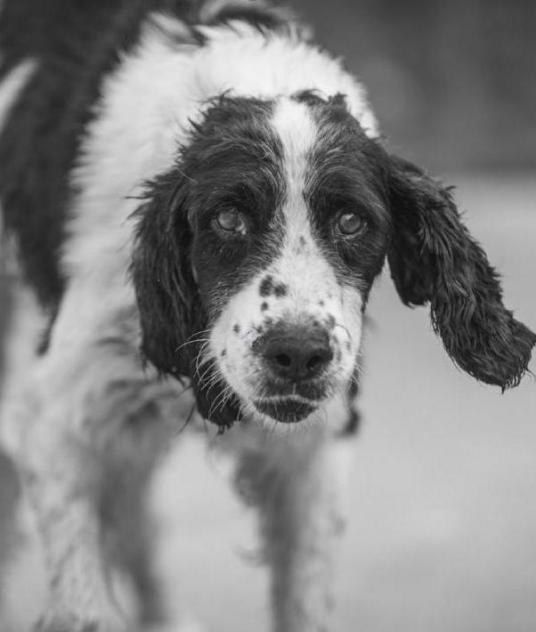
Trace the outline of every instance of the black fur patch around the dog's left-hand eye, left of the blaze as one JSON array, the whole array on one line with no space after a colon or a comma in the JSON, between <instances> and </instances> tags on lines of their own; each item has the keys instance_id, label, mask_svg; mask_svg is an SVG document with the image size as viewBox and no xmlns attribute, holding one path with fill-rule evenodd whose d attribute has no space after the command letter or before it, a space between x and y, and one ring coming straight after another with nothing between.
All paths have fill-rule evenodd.
<instances>
[{"instance_id":1,"label":"black fur patch around the dog's left-hand eye, left of the blaze","mask_svg":"<svg viewBox=\"0 0 536 632\"><path fill-rule=\"evenodd\" d=\"M255 99L213 100L181 157L181 170L190 176L185 205L195 236L192 263L211 318L269 265L282 243L283 228L273 220L286 189L283 150L268 124L272 109ZM246 238L222 239L212 229L225 207L247 217Z\"/></svg>"}]
</instances>

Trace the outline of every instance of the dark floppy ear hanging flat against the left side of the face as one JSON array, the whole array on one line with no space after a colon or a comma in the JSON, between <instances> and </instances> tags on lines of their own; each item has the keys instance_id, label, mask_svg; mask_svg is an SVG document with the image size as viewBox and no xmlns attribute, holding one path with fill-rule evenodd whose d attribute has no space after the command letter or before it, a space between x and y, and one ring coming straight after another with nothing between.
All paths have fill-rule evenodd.
<instances>
[{"instance_id":1,"label":"dark floppy ear hanging flat against the left side of the face","mask_svg":"<svg viewBox=\"0 0 536 632\"><path fill-rule=\"evenodd\" d=\"M221 397L226 386L212 364L200 362L207 320L192 269L187 180L177 173L161 176L146 197L135 213L131 268L142 352L160 372L191 378L199 413L229 427L240 416L238 403Z\"/></svg>"}]
</instances>

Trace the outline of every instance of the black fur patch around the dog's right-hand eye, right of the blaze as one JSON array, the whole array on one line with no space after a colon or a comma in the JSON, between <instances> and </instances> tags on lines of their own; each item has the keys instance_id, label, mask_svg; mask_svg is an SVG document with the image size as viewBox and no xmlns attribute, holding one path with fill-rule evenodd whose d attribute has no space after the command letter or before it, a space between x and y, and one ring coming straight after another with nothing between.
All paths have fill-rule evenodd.
<instances>
[{"instance_id":1,"label":"black fur patch around the dog's right-hand eye, right of the blaze","mask_svg":"<svg viewBox=\"0 0 536 632\"><path fill-rule=\"evenodd\" d=\"M390 239L388 161L350 115L342 95L323 99L304 91L294 98L311 108L318 126L305 191L316 238L341 281L357 283L366 302ZM348 212L366 222L362 234L338 232L338 217Z\"/></svg>"}]
</instances>

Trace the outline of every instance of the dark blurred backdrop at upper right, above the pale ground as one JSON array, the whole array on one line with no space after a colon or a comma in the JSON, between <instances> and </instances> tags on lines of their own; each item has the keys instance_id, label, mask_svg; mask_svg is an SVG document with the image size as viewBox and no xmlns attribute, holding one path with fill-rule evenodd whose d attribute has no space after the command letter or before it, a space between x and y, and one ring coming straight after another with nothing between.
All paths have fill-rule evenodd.
<instances>
[{"instance_id":1,"label":"dark blurred backdrop at upper right, above the pale ground","mask_svg":"<svg viewBox=\"0 0 536 632\"><path fill-rule=\"evenodd\" d=\"M369 88L383 131L432 169L536 166L533 0L295 0Z\"/></svg>"}]
</instances>

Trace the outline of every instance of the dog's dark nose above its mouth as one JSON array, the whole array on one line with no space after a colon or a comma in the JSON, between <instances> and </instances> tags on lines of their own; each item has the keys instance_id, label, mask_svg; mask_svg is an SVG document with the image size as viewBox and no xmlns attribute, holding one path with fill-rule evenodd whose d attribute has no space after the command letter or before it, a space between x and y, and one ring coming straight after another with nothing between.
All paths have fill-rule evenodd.
<instances>
[{"instance_id":1,"label":"dog's dark nose above its mouth","mask_svg":"<svg viewBox=\"0 0 536 632\"><path fill-rule=\"evenodd\" d=\"M266 335L263 355L276 377L294 382L316 377L333 358L324 329L288 326Z\"/></svg>"}]
</instances>

